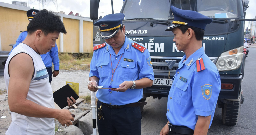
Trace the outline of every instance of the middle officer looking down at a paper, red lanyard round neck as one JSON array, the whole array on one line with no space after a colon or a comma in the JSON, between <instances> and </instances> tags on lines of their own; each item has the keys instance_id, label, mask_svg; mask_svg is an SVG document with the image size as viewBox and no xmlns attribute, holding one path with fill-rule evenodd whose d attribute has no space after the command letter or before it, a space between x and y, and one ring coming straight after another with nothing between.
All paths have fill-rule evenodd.
<instances>
[{"instance_id":1,"label":"middle officer looking down at a paper, red lanyard round neck","mask_svg":"<svg viewBox=\"0 0 256 135\"><path fill-rule=\"evenodd\" d=\"M97 124L100 135L138 135L141 133L140 106L143 88L151 87L154 73L149 51L125 36L124 14L109 14L99 21L105 43L95 46L89 80L97 91ZM113 88L113 89L111 89Z\"/></svg>"}]
</instances>

